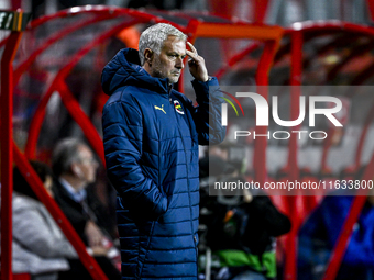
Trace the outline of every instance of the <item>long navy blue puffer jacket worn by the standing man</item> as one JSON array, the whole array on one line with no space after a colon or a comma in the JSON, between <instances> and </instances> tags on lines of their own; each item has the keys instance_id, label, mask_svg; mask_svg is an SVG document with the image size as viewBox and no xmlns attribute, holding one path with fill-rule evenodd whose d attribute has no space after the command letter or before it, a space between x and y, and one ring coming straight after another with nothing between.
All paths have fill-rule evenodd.
<instances>
[{"instance_id":1,"label":"long navy blue puffer jacket worn by the standing man","mask_svg":"<svg viewBox=\"0 0 374 280\"><path fill-rule=\"evenodd\" d=\"M198 145L220 143L217 79L193 81L198 107L122 49L105 67L107 172L118 191L122 279L197 279Z\"/></svg>"}]
</instances>

